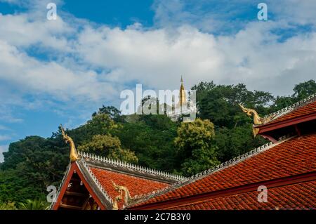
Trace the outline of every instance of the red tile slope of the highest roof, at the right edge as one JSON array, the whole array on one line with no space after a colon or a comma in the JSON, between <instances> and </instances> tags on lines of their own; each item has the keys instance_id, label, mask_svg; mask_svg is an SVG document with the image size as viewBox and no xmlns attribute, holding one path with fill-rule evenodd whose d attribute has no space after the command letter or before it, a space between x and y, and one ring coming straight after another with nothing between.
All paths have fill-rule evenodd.
<instances>
[{"instance_id":1,"label":"red tile slope of the highest roof, at the right edge","mask_svg":"<svg viewBox=\"0 0 316 224\"><path fill-rule=\"evenodd\" d=\"M267 124L277 123L279 121L285 121L285 120L289 120L289 119L303 117L307 114L312 114L312 113L316 113L316 100L314 100L313 102L308 103L306 105L303 105L301 107L298 107L295 110L288 112L287 114L284 114L280 117L277 117L266 124L262 124L261 126L265 126Z\"/></svg>"}]
</instances>

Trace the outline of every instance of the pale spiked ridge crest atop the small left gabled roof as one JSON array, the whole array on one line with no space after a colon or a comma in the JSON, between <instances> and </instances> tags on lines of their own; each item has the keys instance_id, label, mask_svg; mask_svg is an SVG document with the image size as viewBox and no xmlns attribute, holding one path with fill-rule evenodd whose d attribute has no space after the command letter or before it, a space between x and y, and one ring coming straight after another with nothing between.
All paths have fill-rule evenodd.
<instances>
[{"instance_id":1,"label":"pale spiked ridge crest atop the small left gabled roof","mask_svg":"<svg viewBox=\"0 0 316 224\"><path fill-rule=\"evenodd\" d=\"M155 174L155 175L159 175L159 176L164 176L166 178L171 178L171 179L174 179L174 180L184 180L184 179L186 179L183 176L176 175L176 174L173 174L173 173L168 173L168 172L165 172L165 171L159 171L157 169L151 169L151 168L148 168L148 167L145 167L145 166L140 166L138 164L131 164L131 163L127 163L127 162L121 162L121 161L116 160L116 159L110 159L110 158L107 158L107 157L101 157L101 156L98 156L98 155L92 154L92 153L78 152L78 154L81 155L81 157L86 157L86 158L93 159L93 160L96 160L96 161L99 161L99 162L105 162L105 163L108 163L108 164L114 164L114 165L117 165L117 166L122 166L122 167L129 168L129 169L136 169L138 171L143 171L145 173L150 173L150 174Z\"/></svg>"}]
</instances>

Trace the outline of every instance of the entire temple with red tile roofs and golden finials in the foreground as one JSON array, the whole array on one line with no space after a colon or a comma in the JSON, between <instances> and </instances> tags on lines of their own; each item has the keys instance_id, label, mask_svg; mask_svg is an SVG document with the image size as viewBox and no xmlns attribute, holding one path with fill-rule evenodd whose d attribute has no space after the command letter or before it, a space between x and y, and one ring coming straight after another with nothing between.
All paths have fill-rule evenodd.
<instances>
[{"instance_id":1,"label":"entire temple with red tile roofs and golden finials in the foreground","mask_svg":"<svg viewBox=\"0 0 316 224\"><path fill-rule=\"evenodd\" d=\"M269 143L190 178L72 148L51 209L316 209L316 95L266 117L240 106Z\"/></svg>"}]
</instances>

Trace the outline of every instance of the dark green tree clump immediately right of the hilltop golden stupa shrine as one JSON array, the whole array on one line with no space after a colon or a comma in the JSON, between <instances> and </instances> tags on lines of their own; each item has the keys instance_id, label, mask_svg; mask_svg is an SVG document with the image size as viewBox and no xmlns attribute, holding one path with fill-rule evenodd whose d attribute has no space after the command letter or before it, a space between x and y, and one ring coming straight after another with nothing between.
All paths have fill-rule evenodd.
<instances>
[{"instance_id":1,"label":"dark green tree clump immediately right of the hilltop golden stupa shrine","mask_svg":"<svg viewBox=\"0 0 316 224\"><path fill-rule=\"evenodd\" d=\"M197 90L198 117L210 119L216 127L227 127L229 129L242 125L247 120L239 120L243 113L238 104L254 108L261 115L268 114L270 105L274 98L268 92L248 91L244 84L218 85L202 82L193 86ZM243 121L242 124L239 124ZM248 120L249 122L249 120Z\"/></svg>"}]
</instances>

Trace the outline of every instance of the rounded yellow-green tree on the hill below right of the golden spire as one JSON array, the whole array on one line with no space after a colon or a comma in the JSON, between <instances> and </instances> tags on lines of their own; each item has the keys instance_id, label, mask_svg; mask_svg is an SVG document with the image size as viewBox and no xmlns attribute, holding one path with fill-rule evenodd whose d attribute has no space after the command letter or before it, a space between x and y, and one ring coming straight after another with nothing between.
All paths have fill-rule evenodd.
<instances>
[{"instance_id":1,"label":"rounded yellow-green tree on the hill below right of the golden spire","mask_svg":"<svg viewBox=\"0 0 316 224\"><path fill-rule=\"evenodd\" d=\"M213 123L207 119L183 123L178 128L175 145L179 157L184 161L181 171L185 176L199 173L219 163L216 158L214 136Z\"/></svg>"}]
</instances>

